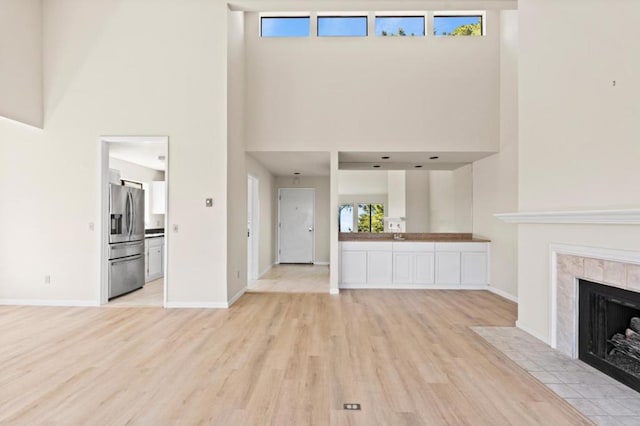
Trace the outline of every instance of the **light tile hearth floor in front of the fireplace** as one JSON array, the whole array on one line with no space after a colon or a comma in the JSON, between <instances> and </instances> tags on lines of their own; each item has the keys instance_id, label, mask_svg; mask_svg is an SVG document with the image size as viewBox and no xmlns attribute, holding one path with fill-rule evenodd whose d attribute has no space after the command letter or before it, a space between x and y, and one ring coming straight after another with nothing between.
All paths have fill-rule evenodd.
<instances>
[{"instance_id":1,"label":"light tile hearth floor in front of the fireplace","mask_svg":"<svg viewBox=\"0 0 640 426\"><path fill-rule=\"evenodd\" d=\"M640 393L515 327L472 327L597 425L640 426Z\"/></svg>"}]
</instances>

